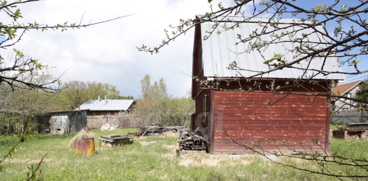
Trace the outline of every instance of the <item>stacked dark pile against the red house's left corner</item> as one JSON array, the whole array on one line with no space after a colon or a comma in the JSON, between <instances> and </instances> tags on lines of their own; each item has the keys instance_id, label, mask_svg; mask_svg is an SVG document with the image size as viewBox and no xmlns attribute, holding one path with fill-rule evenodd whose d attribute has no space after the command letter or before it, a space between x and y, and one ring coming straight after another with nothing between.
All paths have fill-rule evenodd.
<instances>
[{"instance_id":1,"label":"stacked dark pile against the red house's left corner","mask_svg":"<svg viewBox=\"0 0 368 181\"><path fill-rule=\"evenodd\" d=\"M189 128L180 130L178 140L180 150L184 151L202 151L206 149L207 141L201 135L195 133Z\"/></svg>"}]
</instances>

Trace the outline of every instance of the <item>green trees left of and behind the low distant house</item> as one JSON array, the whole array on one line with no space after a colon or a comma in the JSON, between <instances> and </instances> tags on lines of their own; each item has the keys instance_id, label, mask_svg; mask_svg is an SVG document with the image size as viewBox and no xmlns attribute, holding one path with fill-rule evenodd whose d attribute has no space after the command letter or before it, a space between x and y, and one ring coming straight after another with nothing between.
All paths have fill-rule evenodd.
<instances>
[{"instance_id":1,"label":"green trees left of and behind the low distant house","mask_svg":"<svg viewBox=\"0 0 368 181\"><path fill-rule=\"evenodd\" d=\"M17 72L14 72L17 73ZM55 78L48 68L19 74L22 82L36 85L52 82ZM57 82L50 89L29 88L13 82L0 83L0 133L25 133L33 125L37 116L53 111L69 111L89 99L97 99L98 94L106 94L108 99L134 99L121 96L116 86L99 82L69 81Z\"/></svg>"}]
</instances>

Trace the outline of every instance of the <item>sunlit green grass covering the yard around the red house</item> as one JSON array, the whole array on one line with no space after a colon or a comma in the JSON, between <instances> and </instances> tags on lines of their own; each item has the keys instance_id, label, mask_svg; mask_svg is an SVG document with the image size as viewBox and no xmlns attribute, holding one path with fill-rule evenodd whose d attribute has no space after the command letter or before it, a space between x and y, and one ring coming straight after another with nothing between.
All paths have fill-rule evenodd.
<instances>
[{"instance_id":1,"label":"sunlit green grass covering the yard around the red house","mask_svg":"<svg viewBox=\"0 0 368 181\"><path fill-rule=\"evenodd\" d=\"M332 126L332 128L334 128ZM41 166L42 180L337 180L317 174L287 169L261 156L248 154L240 159L229 159L226 155L213 156L192 153L186 159L176 155L174 149L165 145L176 144L177 137L155 136L135 140L132 145L115 148L100 148L98 137L109 134L126 134L137 129L93 131L96 155L80 156L67 145L75 134L36 135L19 145L13 160L4 163L6 170L0 180L20 180L25 177L30 164L38 163L48 153ZM0 148L14 145L12 136L0 137ZM139 142L156 141L141 146ZM368 141L330 139L330 152L338 152L349 158L368 158ZM6 151L1 151L0 156ZM282 159L309 169L318 169L316 164L304 160ZM329 166L329 165L327 165ZM367 174L357 168L334 166L338 174ZM344 179L350 180L350 179Z\"/></svg>"}]
</instances>

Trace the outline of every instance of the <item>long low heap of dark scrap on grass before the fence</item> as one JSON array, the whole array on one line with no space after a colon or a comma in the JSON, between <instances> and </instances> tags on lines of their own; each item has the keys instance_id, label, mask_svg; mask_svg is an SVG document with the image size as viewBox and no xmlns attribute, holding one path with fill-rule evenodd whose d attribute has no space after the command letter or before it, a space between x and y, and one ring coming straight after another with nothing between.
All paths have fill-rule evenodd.
<instances>
[{"instance_id":1,"label":"long low heap of dark scrap on grass before the fence","mask_svg":"<svg viewBox=\"0 0 368 181\"><path fill-rule=\"evenodd\" d=\"M128 132L128 135L134 136L153 136L162 134L164 132L178 132L183 128L188 128L187 126L173 126L173 127L156 127L156 126L148 126L141 127L139 131L136 132Z\"/></svg>"}]
</instances>

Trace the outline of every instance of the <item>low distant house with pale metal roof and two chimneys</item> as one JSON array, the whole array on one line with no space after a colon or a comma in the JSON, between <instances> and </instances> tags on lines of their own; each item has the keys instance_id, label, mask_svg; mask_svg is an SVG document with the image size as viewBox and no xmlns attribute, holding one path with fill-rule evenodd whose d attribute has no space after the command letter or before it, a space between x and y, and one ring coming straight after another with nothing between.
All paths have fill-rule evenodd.
<instances>
[{"instance_id":1,"label":"low distant house with pale metal roof and two chimneys","mask_svg":"<svg viewBox=\"0 0 368 181\"><path fill-rule=\"evenodd\" d=\"M79 106L79 109L88 109L87 115L113 115L118 112L130 112L134 105L134 99L101 99L98 94L97 100L88 100Z\"/></svg>"}]
</instances>

